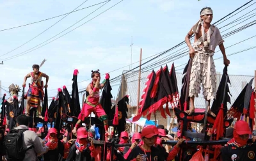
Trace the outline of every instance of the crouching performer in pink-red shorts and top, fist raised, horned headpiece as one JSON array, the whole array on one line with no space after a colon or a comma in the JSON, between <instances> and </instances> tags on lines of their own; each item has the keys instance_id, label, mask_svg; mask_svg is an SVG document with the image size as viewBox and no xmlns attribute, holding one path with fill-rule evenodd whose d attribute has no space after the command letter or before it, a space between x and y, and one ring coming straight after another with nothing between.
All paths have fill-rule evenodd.
<instances>
[{"instance_id":1,"label":"crouching performer in pink-red shorts and top, fist raised, horned headpiece","mask_svg":"<svg viewBox=\"0 0 256 161\"><path fill-rule=\"evenodd\" d=\"M105 79L109 79L109 74L106 74ZM81 120L84 121L84 118L87 118L92 112L99 117L101 121L104 122L104 128L106 131L106 136L108 136L108 116L106 112L99 104L100 100L100 89L103 89L105 86L105 80L100 84L100 72L99 70L92 71L92 82L88 84L86 88L86 92L88 96L86 96L85 102L83 105L81 113L78 116L78 121L76 123L76 127L73 129L73 133L76 134L76 130L81 123ZM84 100L83 100L84 101Z\"/></svg>"}]
</instances>

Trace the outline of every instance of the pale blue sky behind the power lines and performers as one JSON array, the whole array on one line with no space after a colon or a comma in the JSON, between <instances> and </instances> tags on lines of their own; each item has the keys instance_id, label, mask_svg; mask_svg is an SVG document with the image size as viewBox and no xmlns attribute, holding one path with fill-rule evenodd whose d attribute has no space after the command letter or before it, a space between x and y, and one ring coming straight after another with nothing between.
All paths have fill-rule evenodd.
<instances>
[{"instance_id":1,"label":"pale blue sky behind the power lines and performers","mask_svg":"<svg viewBox=\"0 0 256 161\"><path fill-rule=\"evenodd\" d=\"M0 30L68 13L82 3L83 4L77 9L101 2L100 0L88 0L85 3L83 0L0 1ZM68 91L72 91L72 75L75 69L79 70L77 78L79 89L86 88L90 83L91 70L99 69L102 73L102 79L104 79L104 73L108 72L110 72L110 77L114 78L122 74L123 70L129 70L131 62L134 63L132 64L132 68L139 65L140 49L142 49L143 63L148 60L146 59L147 57L154 56L184 41L184 37L189 29L199 20L200 10L205 6L212 8L214 13L212 22L216 22L247 1L232 1L232 3L230 3L229 1L220 0L124 0L116 4L118 2L117 0L111 0L104 6L102 6L102 4L104 4L102 3L70 13L66 17L64 15L56 19L0 31L0 62L4 61L3 65L0 65L0 80L3 88L2 96L3 93L7 93L6 91L8 91L10 84L13 83L22 86L24 76L32 72L31 66L33 64L40 64L43 59L47 59L47 61L45 61L44 65L40 68L40 71L49 75L49 99L52 96L56 96L57 89L62 88L64 85L67 86ZM255 2L253 1L252 3ZM114 4L116 4L116 6L110 8ZM102 6L102 8L99 8L100 6ZM220 28L236 20L248 11L255 9L255 6L256 4L237 13L236 16L226 20L217 27ZM99 10L96 10L97 8L99 8ZM108 11L102 13L102 11L108 8L110 8ZM94 12L92 13L92 11ZM102 14L99 15L100 13ZM253 13L255 13L255 11L252 11L250 14ZM97 15L99 15L99 17L95 17ZM95 19L92 19L93 17L95 17ZM72 26L79 20L81 21ZM220 29L220 31L223 31L221 34L228 33L252 20L255 20L255 17L245 20L235 27L232 26L236 25L238 22L223 27L223 29ZM77 27L83 23L85 24L81 27ZM51 28L45 31L45 29L49 27ZM70 28L67 29L68 27ZM76 27L77 29L74 29ZM228 29L229 27L232 27L232 29ZM61 33L61 31L65 29L67 29L67 31ZM74 29L74 31L71 31L72 29ZM225 29L228 30L224 31ZM43 31L45 32L42 33ZM58 38L58 36L68 31L71 32ZM51 39L54 40L53 42L43 47L38 46L40 47L39 49L33 48L40 43L44 45L45 43L43 42L58 33L61 34L55 37L58 38L57 40L53 38ZM37 36L38 34L40 35ZM254 36L254 34L255 26L249 27L225 38L224 45L228 47ZM35 36L37 37L34 38ZM32 38L34 39L31 40ZM256 37L228 48L226 50L227 54L255 46L255 39ZM51 40L49 40L49 42ZM23 45L24 43L26 44ZM132 57L131 43L133 43ZM182 47L186 47L186 45L175 50L179 50ZM31 48L35 50L29 52ZM219 50L218 47L216 50ZM160 58L170 56L172 52L168 52ZM256 49L252 49L233 56L228 56L228 59L230 59L228 73L232 75L254 75L255 60L253 58L255 57L255 52ZM17 54L21 53L23 53L22 56L15 57ZM218 57L221 57L221 52L214 54L214 58ZM188 59L189 57L185 56L175 60L175 66L187 63ZM168 63L168 66L171 65L172 62ZM216 70L221 72L224 66L223 59L216 60L215 65ZM160 66L155 69L158 70L159 67ZM182 67L184 68L184 66L179 66L176 69L182 69ZM116 70L118 68L120 69ZM115 70L115 72L111 72L113 70ZM182 70L177 72L182 72ZM29 80L27 81L25 91L28 90L28 82ZM112 94L116 96L119 82L114 82L111 85L113 86Z\"/></svg>"}]
</instances>

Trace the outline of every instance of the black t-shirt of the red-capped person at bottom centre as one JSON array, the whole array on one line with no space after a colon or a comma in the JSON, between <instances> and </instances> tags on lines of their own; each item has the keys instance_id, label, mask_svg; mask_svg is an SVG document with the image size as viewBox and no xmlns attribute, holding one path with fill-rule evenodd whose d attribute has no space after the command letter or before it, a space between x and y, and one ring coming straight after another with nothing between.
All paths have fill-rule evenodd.
<instances>
[{"instance_id":1,"label":"black t-shirt of the red-capped person at bottom centre","mask_svg":"<svg viewBox=\"0 0 256 161\"><path fill-rule=\"evenodd\" d=\"M127 157L127 161L132 160L134 158L136 158L138 155L147 155L147 160L148 161L164 161L164 156L161 155L161 152L159 151L159 149L157 149L154 146L151 146L150 151L145 151L143 150L143 148L141 148L141 146L136 146L135 148L132 149L131 153L129 154L129 156ZM151 160L150 160L151 157Z\"/></svg>"}]
</instances>

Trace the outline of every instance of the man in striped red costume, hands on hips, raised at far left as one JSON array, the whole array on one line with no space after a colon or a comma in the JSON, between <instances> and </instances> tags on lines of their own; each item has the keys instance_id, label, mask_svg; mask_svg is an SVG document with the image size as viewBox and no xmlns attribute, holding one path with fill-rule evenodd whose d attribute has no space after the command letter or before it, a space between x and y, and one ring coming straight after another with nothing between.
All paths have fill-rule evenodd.
<instances>
[{"instance_id":1,"label":"man in striped red costume, hands on hips, raised at far left","mask_svg":"<svg viewBox=\"0 0 256 161\"><path fill-rule=\"evenodd\" d=\"M42 66L42 65L40 65ZM28 93L27 93L27 106L26 106L26 111L25 114L27 116L30 116L29 111L31 107L36 107L37 111L38 111L38 117L42 118L42 113L41 113L41 100L43 100L44 98L44 90L43 90L43 86L42 86L42 77L46 78L46 82L45 82L45 88L48 87L48 81L49 81L49 76L46 75L45 73L39 72L39 65L33 65L33 72L28 73L25 77L24 77L24 82L23 82L23 86L26 86L26 81L29 77L31 77L31 85L28 89ZM35 115L35 114L33 114Z\"/></svg>"}]
</instances>

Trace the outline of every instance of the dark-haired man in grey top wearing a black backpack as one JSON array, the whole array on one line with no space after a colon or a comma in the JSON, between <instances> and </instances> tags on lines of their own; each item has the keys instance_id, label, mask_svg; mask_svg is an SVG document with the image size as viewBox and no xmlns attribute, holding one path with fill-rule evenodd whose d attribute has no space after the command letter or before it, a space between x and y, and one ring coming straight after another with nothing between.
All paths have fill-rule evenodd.
<instances>
[{"instance_id":1,"label":"dark-haired man in grey top wearing a black backpack","mask_svg":"<svg viewBox=\"0 0 256 161\"><path fill-rule=\"evenodd\" d=\"M29 117L22 114L16 118L17 128L4 137L6 159L8 161L38 161L38 156L46 153L49 147L43 146L38 135L28 130Z\"/></svg>"}]
</instances>

